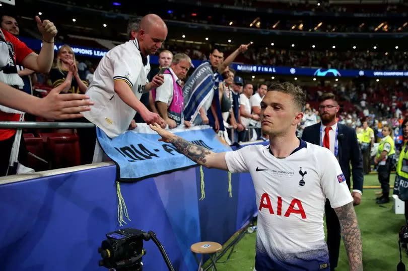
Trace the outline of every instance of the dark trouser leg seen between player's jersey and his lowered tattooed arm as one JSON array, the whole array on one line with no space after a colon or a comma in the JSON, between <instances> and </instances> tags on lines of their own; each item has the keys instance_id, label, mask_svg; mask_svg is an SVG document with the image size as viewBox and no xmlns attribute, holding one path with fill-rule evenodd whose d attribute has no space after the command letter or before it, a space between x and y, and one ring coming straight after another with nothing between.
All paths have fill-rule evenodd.
<instances>
[{"instance_id":1,"label":"dark trouser leg seen between player's jersey and his lowered tattooed arm","mask_svg":"<svg viewBox=\"0 0 408 271\"><path fill-rule=\"evenodd\" d=\"M329 252L330 269L337 267L338 252L341 240L341 228L338 222L337 214L330 206L329 200L326 200L324 205L326 213L326 229L327 229L327 248Z\"/></svg>"}]
</instances>

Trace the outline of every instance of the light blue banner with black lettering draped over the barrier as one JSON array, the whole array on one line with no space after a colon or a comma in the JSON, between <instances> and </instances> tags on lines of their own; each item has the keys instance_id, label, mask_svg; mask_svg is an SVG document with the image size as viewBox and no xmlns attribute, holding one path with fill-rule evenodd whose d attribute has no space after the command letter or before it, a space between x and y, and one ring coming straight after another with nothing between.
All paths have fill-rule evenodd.
<instances>
[{"instance_id":1,"label":"light blue banner with black lettering draped over the barrier","mask_svg":"<svg viewBox=\"0 0 408 271\"><path fill-rule=\"evenodd\" d=\"M231 150L210 126L195 126L188 130L176 128L172 132L213 152ZM113 139L98 128L97 137L102 149L118 165L118 177L125 182L196 164L172 144L158 141L160 136L146 124L140 123L137 129Z\"/></svg>"}]
</instances>

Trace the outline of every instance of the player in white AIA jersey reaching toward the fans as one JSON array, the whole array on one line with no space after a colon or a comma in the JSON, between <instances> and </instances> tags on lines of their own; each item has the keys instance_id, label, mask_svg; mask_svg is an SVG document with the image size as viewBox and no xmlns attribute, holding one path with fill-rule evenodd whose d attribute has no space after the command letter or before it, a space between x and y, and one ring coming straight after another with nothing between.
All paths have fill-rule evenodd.
<instances>
[{"instance_id":1,"label":"player in white AIA jersey reaching toward the fans","mask_svg":"<svg viewBox=\"0 0 408 271\"><path fill-rule=\"evenodd\" d=\"M361 234L346 178L329 149L296 137L306 94L289 82L274 83L261 102L269 146L214 153L150 127L188 158L209 168L249 172L258 205L255 269L330 270L324 241L326 198L337 214L351 271L363 270Z\"/></svg>"}]
</instances>

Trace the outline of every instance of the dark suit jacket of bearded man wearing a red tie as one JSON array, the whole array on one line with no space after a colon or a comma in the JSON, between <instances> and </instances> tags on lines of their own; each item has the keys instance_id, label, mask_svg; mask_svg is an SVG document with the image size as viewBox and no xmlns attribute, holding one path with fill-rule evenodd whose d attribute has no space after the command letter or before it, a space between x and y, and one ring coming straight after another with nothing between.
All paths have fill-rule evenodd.
<instances>
[{"instance_id":1,"label":"dark suit jacket of bearded man wearing a red tie","mask_svg":"<svg viewBox=\"0 0 408 271\"><path fill-rule=\"evenodd\" d=\"M305 128L302 139L312 144L320 145L320 125L314 125ZM363 191L363 157L361 155L359 143L357 141L356 131L346 125L338 125L338 163L346 177L347 185L350 189L350 175L353 172L353 189ZM352 170L350 171L350 162Z\"/></svg>"}]
</instances>

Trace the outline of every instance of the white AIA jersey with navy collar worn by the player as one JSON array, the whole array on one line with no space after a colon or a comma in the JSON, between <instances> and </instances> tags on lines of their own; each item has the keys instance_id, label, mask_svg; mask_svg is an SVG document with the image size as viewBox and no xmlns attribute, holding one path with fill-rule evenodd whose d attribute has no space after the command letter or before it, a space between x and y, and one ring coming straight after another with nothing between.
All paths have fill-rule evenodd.
<instances>
[{"instance_id":1,"label":"white AIA jersey with navy collar worn by the player","mask_svg":"<svg viewBox=\"0 0 408 271\"><path fill-rule=\"evenodd\" d=\"M258 206L255 268L329 270L324 241L326 198L337 208L353 201L344 174L326 148L300 141L285 159L269 146L227 152L231 172L249 172Z\"/></svg>"}]
</instances>

